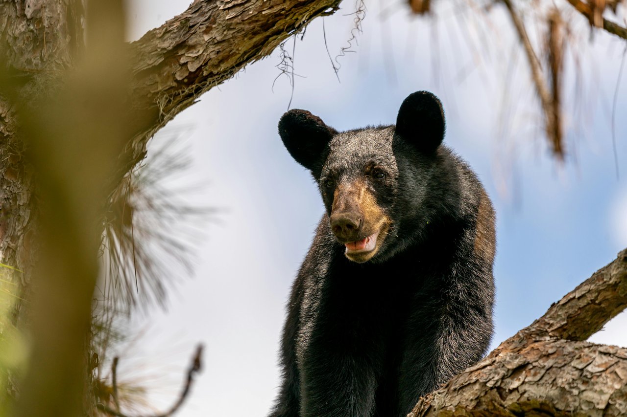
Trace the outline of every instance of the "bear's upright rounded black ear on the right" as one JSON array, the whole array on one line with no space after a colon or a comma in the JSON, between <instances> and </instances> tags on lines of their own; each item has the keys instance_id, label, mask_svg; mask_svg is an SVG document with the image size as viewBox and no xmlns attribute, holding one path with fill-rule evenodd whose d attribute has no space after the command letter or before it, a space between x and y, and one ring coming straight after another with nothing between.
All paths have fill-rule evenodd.
<instances>
[{"instance_id":1,"label":"bear's upright rounded black ear on the right","mask_svg":"<svg viewBox=\"0 0 627 417\"><path fill-rule=\"evenodd\" d=\"M435 152L444 139L445 129L442 103L433 93L411 93L401 104L396 134L421 152Z\"/></svg>"}]
</instances>

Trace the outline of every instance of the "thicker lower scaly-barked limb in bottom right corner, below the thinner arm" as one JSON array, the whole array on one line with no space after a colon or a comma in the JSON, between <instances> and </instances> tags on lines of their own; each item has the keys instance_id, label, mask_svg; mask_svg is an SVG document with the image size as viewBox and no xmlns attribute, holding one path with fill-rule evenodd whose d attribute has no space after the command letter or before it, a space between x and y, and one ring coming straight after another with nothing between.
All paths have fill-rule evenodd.
<instances>
[{"instance_id":1,"label":"thicker lower scaly-barked limb in bottom right corner, below the thinner arm","mask_svg":"<svg viewBox=\"0 0 627 417\"><path fill-rule=\"evenodd\" d=\"M496 349L408 417L624 416L626 400L627 349L549 339Z\"/></svg>"}]
</instances>

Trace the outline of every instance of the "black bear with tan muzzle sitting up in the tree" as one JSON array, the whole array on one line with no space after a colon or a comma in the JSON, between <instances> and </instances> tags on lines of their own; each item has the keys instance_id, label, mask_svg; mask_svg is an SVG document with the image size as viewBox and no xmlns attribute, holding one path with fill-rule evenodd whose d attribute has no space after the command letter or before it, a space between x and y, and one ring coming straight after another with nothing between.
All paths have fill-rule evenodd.
<instances>
[{"instance_id":1,"label":"black bear with tan muzzle sitting up in the tree","mask_svg":"<svg viewBox=\"0 0 627 417\"><path fill-rule=\"evenodd\" d=\"M492 203L441 145L426 91L396 126L339 132L290 110L278 130L326 214L292 287L270 416L405 416L490 344Z\"/></svg>"}]
</instances>

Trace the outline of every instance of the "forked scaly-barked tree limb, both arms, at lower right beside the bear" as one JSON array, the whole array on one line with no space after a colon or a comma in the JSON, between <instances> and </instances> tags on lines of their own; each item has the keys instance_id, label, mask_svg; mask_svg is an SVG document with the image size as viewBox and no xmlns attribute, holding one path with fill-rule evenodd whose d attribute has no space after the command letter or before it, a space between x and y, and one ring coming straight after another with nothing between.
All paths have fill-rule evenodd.
<instances>
[{"instance_id":1,"label":"forked scaly-barked tree limb, both arms, at lower right beside the bear","mask_svg":"<svg viewBox=\"0 0 627 417\"><path fill-rule=\"evenodd\" d=\"M584 341L626 306L627 249L409 416L627 415L627 349Z\"/></svg>"}]
</instances>

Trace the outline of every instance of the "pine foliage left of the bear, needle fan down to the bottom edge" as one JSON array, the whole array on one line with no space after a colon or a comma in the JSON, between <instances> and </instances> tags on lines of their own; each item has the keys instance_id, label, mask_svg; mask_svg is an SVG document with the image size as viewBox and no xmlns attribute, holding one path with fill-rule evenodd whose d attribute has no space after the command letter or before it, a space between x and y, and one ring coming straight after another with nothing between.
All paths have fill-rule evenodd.
<instances>
[{"instance_id":1,"label":"pine foliage left of the bear, needle fan down to the bottom edge","mask_svg":"<svg viewBox=\"0 0 627 417\"><path fill-rule=\"evenodd\" d=\"M150 148L147 162L110 195L90 337L93 378L86 409L92 416L109 415L106 410L144 415L150 409L147 381L118 378L119 358L111 358L112 352L132 344L125 323L133 311L164 307L176 280L192 274L192 254L202 235L194 225L214 212L187 203L193 189L176 185L191 162L185 148L175 149L178 136L159 138L166 145Z\"/></svg>"}]
</instances>

